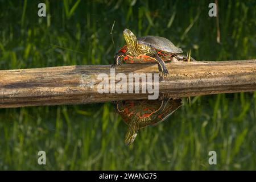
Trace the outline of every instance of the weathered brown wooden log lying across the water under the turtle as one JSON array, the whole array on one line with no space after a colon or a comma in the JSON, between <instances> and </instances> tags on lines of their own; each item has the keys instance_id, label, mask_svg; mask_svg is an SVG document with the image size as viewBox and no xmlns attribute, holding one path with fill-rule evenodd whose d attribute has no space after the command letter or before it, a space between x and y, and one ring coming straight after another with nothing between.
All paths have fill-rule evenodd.
<instances>
[{"instance_id":1,"label":"weathered brown wooden log lying across the water under the turtle","mask_svg":"<svg viewBox=\"0 0 256 182\"><path fill-rule=\"evenodd\" d=\"M159 92L174 97L251 92L256 90L256 60L167 63L170 77ZM124 64L117 73L158 73L156 64ZM75 65L0 71L0 107L86 104L138 100L148 94L97 90L98 74L110 75L110 65ZM110 78L109 78L110 79ZM118 81L116 81L118 82Z\"/></svg>"}]
</instances>

